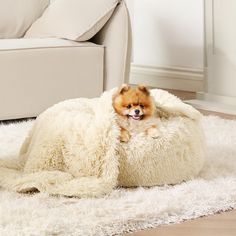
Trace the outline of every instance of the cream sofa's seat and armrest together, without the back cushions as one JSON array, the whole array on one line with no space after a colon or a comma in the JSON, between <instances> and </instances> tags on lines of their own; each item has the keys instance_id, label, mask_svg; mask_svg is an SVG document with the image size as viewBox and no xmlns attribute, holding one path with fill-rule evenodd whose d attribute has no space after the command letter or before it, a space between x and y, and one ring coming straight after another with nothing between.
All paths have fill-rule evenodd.
<instances>
[{"instance_id":1,"label":"cream sofa's seat and armrest together, without the back cushions","mask_svg":"<svg viewBox=\"0 0 236 236\"><path fill-rule=\"evenodd\" d=\"M130 32L126 4L120 1L87 42L0 39L0 120L35 117L61 100L96 97L127 82Z\"/></svg>"}]
</instances>

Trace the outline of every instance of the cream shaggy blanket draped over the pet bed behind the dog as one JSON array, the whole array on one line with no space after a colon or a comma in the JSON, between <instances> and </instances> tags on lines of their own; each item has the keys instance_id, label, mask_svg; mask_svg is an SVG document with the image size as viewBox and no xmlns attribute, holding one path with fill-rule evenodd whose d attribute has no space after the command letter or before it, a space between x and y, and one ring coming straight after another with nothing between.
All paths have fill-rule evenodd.
<instances>
[{"instance_id":1,"label":"cream shaggy blanket draped over the pet bed behind the dog","mask_svg":"<svg viewBox=\"0 0 236 236\"><path fill-rule=\"evenodd\" d=\"M120 130L112 107L116 89L100 98L58 103L35 121L16 159L0 160L0 186L17 191L98 197L118 185ZM151 90L162 117L201 114L163 90ZM143 147L141 147L143 148Z\"/></svg>"}]
</instances>

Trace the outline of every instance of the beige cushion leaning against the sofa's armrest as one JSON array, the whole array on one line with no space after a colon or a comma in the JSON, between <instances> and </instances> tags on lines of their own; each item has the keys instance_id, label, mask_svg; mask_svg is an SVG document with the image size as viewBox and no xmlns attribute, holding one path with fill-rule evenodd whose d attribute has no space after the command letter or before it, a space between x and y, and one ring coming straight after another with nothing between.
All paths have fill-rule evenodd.
<instances>
[{"instance_id":1,"label":"beige cushion leaning against the sofa's armrest","mask_svg":"<svg viewBox=\"0 0 236 236\"><path fill-rule=\"evenodd\" d=\"M92 38L108 21L119 0L56 0L26 32L27 38Z\"/></svg>"}]
</instances>

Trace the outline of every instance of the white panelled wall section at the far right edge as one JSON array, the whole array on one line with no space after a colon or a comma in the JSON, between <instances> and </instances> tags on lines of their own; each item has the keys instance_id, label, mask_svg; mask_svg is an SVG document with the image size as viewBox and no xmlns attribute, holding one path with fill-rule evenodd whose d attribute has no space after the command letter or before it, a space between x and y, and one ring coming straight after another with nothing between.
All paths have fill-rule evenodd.
<instances>
[{"instance_id":1,"label":"white panelled wall section at the far right edge","mask_svg":"<svg viewBox=\"0 0 236 236\"><path fill-rule=\"evenodd\" d=\"M226 104L224 108L236 114L236 1L205 3L207 68L204 93L199 98L217 106Z\"/></svg>"}]
</instances>

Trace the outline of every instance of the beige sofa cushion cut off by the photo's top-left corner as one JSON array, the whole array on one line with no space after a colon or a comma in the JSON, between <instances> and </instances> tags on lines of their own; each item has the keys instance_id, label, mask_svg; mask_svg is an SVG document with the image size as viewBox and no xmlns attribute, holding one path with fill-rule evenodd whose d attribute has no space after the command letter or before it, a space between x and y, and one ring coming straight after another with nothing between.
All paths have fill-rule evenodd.
<instances>
[{"instance_id":1,"label":"beige sofa cushion cut off by the photo's top-left corner","mask_svg":"<svg viewBox=\"0 0 236 236\"><path fill-rule=\"evenodd\" d=\"M0 0L0 38L20 38L49 0Z\"/></svg>"}]
</instances>

